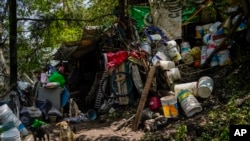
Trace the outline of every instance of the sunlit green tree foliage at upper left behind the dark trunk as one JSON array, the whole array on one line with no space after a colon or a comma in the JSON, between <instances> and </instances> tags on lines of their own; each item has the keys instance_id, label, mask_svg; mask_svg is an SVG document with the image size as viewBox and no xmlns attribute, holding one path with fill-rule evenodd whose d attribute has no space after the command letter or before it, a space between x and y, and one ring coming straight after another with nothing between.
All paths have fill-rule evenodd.
<instances>
[{"instance_id":1,"label":"sunlit green tree foliage at upper left behind the dark trunk","mask_svg":"<svg viewBox=\"0 0 250 141\"><path fill-rule=\"evenodd\" d=\"M28 73L48 63L48 48L81 39L85 26L113 23L118 0L17 0L17 5L18 71ZM7 1L1 1L0 6L0 17L4 17L0 24L6 31L0 36L7 38L8 11L2 12Z\"/></svg>"}]
</instances>

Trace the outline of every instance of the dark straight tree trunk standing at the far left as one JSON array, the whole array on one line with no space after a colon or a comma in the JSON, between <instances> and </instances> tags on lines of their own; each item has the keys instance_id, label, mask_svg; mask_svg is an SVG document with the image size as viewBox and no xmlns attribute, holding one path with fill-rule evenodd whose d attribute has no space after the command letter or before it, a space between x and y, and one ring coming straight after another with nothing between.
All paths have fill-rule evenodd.
<instances>
[{"instance_id":1,"label":"dark straight tree trunk standing at the far left","mask_svg":"<svg viewBox=\"0 0 250 141\"><path fill-rule=\"evenodd\" d=\"M17 82L17 19L16 0L9 0L9 22L10 22L10 85Z\"/></svg>"}]
</instances>

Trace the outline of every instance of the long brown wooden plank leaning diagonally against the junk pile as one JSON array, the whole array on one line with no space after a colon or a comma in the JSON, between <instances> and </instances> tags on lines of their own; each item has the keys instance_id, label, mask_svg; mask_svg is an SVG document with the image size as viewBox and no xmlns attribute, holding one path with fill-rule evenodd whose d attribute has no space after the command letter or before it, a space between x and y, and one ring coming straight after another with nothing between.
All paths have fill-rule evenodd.
<instances>
[{"instance_id":1,"label":"long brown wooden plank leaning diagonally against the junk pile","mask_svg":"<svg viewBox=\"0 0 250 141\"><path fill-rule=\"evenodd\" d=\"M152 81L153 81L153 78L154 78L155 70L156 70L156 67L152 66L150 68L149 73L148 73L148 77L147 77L145 86L143 88L142 94L141 94L140 103L139 103L139 105L137 107L135 120L134 120L134 123L133 123L133 131L136 131L138 129L138 126L139 126L139 123L140 123L140 120L141 120L141 116L142 116L142 112L143 112L143 108L144 108L145 103L147 101L148 92L149 92L149 89L151 87L151 84L152 84Z\"/></svg>"}]
</instances>

